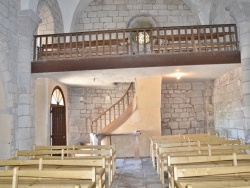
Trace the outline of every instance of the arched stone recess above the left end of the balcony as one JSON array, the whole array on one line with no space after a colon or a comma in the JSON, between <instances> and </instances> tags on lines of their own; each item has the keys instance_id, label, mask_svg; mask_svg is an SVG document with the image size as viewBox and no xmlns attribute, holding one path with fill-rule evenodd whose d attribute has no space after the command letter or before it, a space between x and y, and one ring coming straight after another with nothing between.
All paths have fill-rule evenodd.
<instances>
[{"instance_id":1,"label":"arched stone recess above the left end of the balcony","mask_svg":"<svg viewBox=\"0 0 250 188\"><path fill-rule=\"evenodd\" d=\"M63 32L63 19L57 1L40 0L37 14L42 19L38 26L38 34L54 34Z\"/></svg>"}]
</instances>

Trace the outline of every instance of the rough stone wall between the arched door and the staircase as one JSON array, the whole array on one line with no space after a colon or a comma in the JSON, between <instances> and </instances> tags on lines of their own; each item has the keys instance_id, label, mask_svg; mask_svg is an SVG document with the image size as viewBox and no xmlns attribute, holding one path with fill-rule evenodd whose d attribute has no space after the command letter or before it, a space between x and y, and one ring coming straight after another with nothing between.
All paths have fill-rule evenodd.
<instances>
[{"instance_id":1,"label":"rough stone wall between the arched door and the staircase","mask_svg":"<svg viewBox=\"0 0 250 188\"><path fill-rule=\"evenodd\" d=\"M69 95L69 144L89 142L89 126L104 110L115 104L130 84L117 84L114 88L68 89Z\"/></svg>"}]
</instances>

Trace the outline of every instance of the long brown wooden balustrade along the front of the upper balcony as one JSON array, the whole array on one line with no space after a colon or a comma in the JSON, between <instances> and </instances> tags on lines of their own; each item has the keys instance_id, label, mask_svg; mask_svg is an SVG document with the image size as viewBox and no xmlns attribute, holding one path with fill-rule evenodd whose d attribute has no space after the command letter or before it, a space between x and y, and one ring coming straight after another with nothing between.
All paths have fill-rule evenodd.
<instances>
[{"instance_id":1,"label":"long brown wooden balustrade along the front of the upper balcony","mask_svg":"<svg viewBox=\"0 0 250 188\"><path fill-rule=\"evenodd\" d=\"M84 31L34 36L34 61L239 50L235 24Z\"/></svg>"}]
</instances>

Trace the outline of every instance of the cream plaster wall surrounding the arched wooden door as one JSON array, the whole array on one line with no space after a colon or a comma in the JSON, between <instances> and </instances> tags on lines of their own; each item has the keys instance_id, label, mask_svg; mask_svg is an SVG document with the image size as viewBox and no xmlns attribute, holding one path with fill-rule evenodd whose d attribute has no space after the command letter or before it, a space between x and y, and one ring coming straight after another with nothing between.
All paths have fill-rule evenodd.
<instances>
[{"instance_id":1,"label":"cream plaster wall surrounding the arched wooden door","mask_svg":"<svg viewBox=\"0 0 250 188\"><path fill-rule=\"evenodd\" d=\"M35 81L35 144L50 145L50 101L56 86L59 86L64 94L66 105L66 128L68 129L68 93L64 84L48 78L38 78ZM68 133L68 130L66 131ZM68 139L68 135L67 135ZM67 141L68 143L68 141Z\"/></svg>"}]
</instances>

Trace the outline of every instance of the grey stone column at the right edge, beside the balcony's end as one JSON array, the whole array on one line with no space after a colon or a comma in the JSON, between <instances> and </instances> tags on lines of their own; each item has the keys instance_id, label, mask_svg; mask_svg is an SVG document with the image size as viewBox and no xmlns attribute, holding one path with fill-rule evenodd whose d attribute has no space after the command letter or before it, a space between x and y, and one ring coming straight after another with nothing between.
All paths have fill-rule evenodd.
<instances>
[{"instance_id":1,"label":"grey stone column at the right edge, beside the balcony's end","mask_svg":"<svg viewBox=\"0 0 250 188\"><path fill-rule=\"evenodd\" d=\"M238 135L250 143L250 2L249 0L229 1L226 9L236 20L240 41L243 112L245 118L244 135Z\"/></svg>"}]
</instances>

